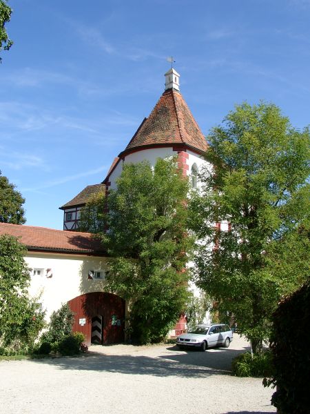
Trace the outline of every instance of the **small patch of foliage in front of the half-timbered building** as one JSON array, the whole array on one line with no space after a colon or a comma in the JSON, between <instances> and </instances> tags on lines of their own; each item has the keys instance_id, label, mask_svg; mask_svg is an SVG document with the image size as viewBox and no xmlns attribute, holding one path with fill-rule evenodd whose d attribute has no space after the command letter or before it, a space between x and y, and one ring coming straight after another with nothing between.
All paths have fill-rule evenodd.
<instances>
[{"instance_id":1,"label":"small patch of foliage in front of the half-timbered building","mask_svg":"<svg viewBox=\"0 0 310 414\"><path fill-rule=\"evenodd\" d=\"M81 208L79 230L90 233L103 232L105 226L105 193L95 193L90 196L87 203Z\"/></svg>"}]
</instances>

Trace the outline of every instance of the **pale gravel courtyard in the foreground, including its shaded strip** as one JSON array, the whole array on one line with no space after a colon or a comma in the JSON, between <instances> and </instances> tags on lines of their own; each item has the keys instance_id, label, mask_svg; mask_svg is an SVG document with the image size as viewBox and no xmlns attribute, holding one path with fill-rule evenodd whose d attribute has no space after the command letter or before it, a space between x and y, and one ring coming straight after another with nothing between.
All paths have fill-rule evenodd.
<instances>
[{"instance_id":1,"label":"pale gravel courtyard in the foreground, including its shaded strip","mask_svg":"<svg viewBox=\"0 0 310 414\"><path fill-rule=\"evenodd\" d=\"M229 375L247 348L91 346L83 357L0 362L0 413L276 413L262 380Z\"/></svg>"}]
</instances>

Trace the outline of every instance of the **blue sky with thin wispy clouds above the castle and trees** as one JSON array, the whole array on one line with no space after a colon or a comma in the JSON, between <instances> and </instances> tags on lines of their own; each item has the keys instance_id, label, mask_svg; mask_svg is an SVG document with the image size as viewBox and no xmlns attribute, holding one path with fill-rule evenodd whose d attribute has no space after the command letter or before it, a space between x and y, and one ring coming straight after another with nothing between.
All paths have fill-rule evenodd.
<instances>
[{"instance_id":1,"label":"blue sky with thin wispy clouds above the castle and trees","mask_svg":"<svg viewBox=\"0 0 310 414\"><path fill-rule=\"evenodd\" d=\"M173 55L201 130L236 103L310 123L310 0L10 0L1 52L0 170L26 224L62 228L164 90Z\"/></svg>"}]
</instances>

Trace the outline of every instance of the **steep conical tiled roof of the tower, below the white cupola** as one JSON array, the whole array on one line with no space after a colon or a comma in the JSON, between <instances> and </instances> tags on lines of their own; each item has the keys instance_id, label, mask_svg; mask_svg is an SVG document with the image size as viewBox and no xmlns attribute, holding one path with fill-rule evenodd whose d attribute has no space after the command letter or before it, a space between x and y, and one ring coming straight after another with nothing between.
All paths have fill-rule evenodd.
<instances>
[{"instance_id":1,"label":"steep conical tiled roof of the tower, below the white cupola","mask_svg":"<svg viewBox=\"0 0 310 414\"><path fill-rule=\"evenodd\" d=\"M199 152L205 152L208 147L187 103L174 89L163 92L120 155L134 148L167 144L185 144Z\"/></svg>"}]
</instances>

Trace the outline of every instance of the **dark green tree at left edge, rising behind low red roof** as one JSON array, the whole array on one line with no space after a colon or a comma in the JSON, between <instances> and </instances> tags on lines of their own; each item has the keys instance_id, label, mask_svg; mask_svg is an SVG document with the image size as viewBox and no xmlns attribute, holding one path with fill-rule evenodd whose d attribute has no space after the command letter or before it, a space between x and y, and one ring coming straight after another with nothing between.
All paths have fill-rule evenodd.
<instances>
[{"instance_id":1,"label":"dark green tree at left edge, rising behind low red roof","mask_svg":"<svg viewBox=\"0 0 310 414\"><path fill-rule=\"evenodd\" d=\"M14 190L14 184L10 184L8 179L1 175L0 171L0 222L11 224L25 223L25 210L23 203L25 199L21 193Z\"/></svg>"}]
</instances>

